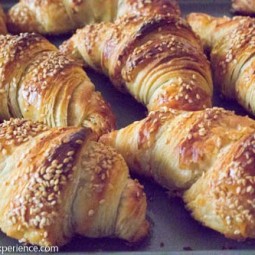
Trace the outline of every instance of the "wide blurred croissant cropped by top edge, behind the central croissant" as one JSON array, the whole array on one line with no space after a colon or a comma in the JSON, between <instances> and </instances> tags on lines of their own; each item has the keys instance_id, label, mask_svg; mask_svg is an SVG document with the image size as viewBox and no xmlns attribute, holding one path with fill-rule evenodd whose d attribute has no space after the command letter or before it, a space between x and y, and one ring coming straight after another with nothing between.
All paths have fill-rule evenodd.
<instances>
[{"instance_id":1,"label":"wide blurred croissant cropped by top edge, behind the central croissant","mask_svg":"<svg viewBox=\"0 0 255 255\"><path fill-rule=\"evenodd\" d=\"M179 12L175 0L20 0L8 13L8 28L12 33L63 34L120 15L147 16L169 9Z\"/></svg>"}]
</instances>

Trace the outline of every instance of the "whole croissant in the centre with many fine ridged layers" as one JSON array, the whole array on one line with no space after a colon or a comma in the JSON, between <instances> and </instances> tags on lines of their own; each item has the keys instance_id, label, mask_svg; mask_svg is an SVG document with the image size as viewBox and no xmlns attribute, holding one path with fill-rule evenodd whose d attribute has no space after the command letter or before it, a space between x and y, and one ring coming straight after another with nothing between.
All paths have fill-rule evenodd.
<instances>
[{"instance_id":1,"label":"whole croissant in the centre with many fine ridged layers","mask_svg":"<svg viewBox=\"0 0 255 255\"><path fill-rule=\"evenodd\" d=\"M77 30L60 50L110 77L149 111L211 106L209 62L177 15L123 17Z\"/></svg>"}]
</instances>

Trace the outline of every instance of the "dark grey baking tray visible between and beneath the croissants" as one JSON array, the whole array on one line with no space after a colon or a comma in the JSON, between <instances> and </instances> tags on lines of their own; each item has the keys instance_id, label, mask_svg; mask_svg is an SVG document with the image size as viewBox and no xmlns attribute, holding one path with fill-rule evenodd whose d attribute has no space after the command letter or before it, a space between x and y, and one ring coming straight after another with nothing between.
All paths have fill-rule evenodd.
<instances>
[{"instance_id":1,"label":"dark grey baking tray visible between and beneath the croissants","mask_svg":"<svg viewBox=\"0 0 255 255\"><path fill-rule=\"evenodd\" d=\"M2 1L8 9L17 1ZM183 15L189 12L206 12L216 16L230 15L230 0L183 0L179 1ZM55 44L59 44L68 36L49 37ZM110 102L117 117L118 128L140 120L146 116L146 109L138 104L131 96L116 91L110 81L102 75L87 70L89 77L94 82L97 90L101 91L104 98ZM239 114L246 114L233 102L223 101L219 93L215 93L214 105L235 110ZM193 220L190 213L185 210L179 198L169 197L167 191L150 180L139 176L148 197L147 216L151 222L149 237L137 245L115 239L88 239L76 236L73 240L60 249L61 252L94 252L95 254L132 252L134 254L255 254L255 241L236 242L224 238L221 234L203 227ZM0 233L0 246L18 245L16 240Z\"/></svg>"}]
</instances>

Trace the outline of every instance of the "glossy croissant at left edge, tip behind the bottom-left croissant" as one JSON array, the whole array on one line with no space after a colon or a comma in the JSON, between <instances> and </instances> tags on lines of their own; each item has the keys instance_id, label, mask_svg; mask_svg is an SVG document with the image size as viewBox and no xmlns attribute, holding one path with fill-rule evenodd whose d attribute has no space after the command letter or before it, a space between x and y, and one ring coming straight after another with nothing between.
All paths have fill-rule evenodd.
<instances>
[{"instance_id":1,"label":"glossy croissant at left edge, tip behind the bottom-left croissant","mask_svg":"<svg viewBox=\"0 0 255 255\"><path fill-rule=\"evenodd\" d=\"M84 126L101 135L115 119L81 65L37 34L0 36L0 118Z\"/></svg>"}]
</instances>

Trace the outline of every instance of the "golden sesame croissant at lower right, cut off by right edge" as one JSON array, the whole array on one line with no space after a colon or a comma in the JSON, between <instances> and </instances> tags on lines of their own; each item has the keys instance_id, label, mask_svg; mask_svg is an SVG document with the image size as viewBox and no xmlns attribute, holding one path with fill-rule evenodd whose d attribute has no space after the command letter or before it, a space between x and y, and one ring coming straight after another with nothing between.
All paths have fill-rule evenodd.
<instances>
[{"instance_id":1,"label":"golden sesame croissant at lower right, cut off by right edge","mask_svg":"<svg viewBox=\"0 0 255 255\"><path fill-rule=\"evenodd\" d=\"M221 108L161 110L100 141L138 174L183 192L202 224L229 238L255 238L254 120Z\"/></svg>"}]
</instances>

